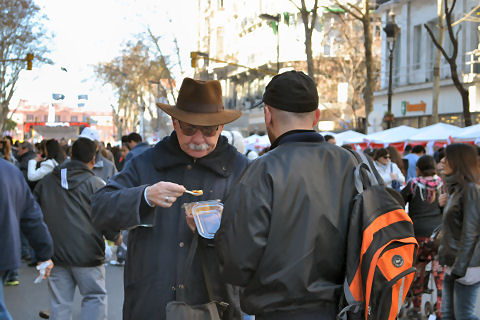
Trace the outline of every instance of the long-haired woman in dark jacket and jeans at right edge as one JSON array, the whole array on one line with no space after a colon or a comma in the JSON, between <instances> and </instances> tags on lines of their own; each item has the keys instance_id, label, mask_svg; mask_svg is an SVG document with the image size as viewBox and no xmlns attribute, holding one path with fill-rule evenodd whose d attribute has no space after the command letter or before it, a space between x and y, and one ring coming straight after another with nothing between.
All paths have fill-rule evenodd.
<instances>
[{"instance_id":1,"label":"long-haired woman in dark jacket and jeans at right edge","mask_svg":"<svg viewBox=\"0 0 480 320\"><path fill-rule=\"evenodd\" d=\"M473 146L450 144L443 172L448 200L443 209L439 258L446 266L442 319L478 319L480 288L480 172Z\"/></svg>"}]
</instances>

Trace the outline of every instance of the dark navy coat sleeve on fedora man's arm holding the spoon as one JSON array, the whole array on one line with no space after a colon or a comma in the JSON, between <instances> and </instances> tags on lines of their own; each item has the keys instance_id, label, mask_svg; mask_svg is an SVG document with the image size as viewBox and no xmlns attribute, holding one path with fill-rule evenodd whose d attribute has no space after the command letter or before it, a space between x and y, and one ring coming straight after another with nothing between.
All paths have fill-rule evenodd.
<instances>
[{"instance_id":1,"label":"dark navy coat sleeve on fedora man's arm holding the spoon","mask_svg":"<svg viewBox=\"0 0 480 320\"><path fill-rule=\"evenodd\" d=\"M103 231L118 231L137 226L152 226L155 208L141 205L147 185L139 184L139 168L128 168L108 180L92 197L92 221Z\"/></svg>"}]
</instances>

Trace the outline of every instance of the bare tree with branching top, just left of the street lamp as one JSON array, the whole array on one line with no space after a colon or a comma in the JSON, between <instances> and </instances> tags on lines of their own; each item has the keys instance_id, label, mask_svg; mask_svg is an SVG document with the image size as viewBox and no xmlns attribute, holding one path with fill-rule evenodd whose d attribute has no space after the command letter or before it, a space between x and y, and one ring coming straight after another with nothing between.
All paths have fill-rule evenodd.
<instances>
[{"instance_id":1,"label":"bare tree with branching top, just left of the street lamp","mask_svg":"<svg viewBox=\"0 0 480 320\"><path fill-rule=\"evenodd\" d=\"M365 49L365 64L367 69L367 81L365 82L363 99L365 101L365 116L368 117L373 110L373 90L375 88L370 0L349 1L346 4L340 3L339 0L334 1L338 7L359 20L363 26L363 46Z\"/></svg>"}]
</instances>

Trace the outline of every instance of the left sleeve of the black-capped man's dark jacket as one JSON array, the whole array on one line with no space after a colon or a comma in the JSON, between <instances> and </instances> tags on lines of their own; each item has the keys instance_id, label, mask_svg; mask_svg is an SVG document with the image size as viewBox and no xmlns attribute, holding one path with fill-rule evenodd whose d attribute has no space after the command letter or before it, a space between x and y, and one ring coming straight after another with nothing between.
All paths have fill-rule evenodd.
<instances>
[{"instance_id":1,"label":"left sleeve of the black-capped man's dark jacket","mask_svg":"<svg viewBox=\"0 0 480 320\"><path fill-rule=\"evenodd\" d=\"M264 167L253 163L228 194L215 248L226 282L246 286L267 244L272 183Z\"/></svg>"}]
</instances>

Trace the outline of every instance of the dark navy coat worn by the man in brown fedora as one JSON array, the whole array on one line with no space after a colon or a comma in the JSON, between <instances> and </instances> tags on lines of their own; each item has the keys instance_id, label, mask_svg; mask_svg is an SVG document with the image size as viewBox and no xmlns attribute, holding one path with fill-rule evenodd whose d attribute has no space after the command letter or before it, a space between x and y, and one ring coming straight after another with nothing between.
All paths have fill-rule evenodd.
<instances>
[{"instance_id":1,"label":"dark navy coat worn by the man in brown fedora","mask_svg":"<svg viewBox=\"0 0 480 320\"><path fill-rule=\"evenodd\" d=\"M185 290L189 304L208 302L198 254L191 270L187 271L189 274L185 274L193 233L187 226L182 204L223 200L247 161L223 136L212 153L193 159L180 149L173 132L155 147L132 158L122 172L94 195L94 223L99 228L131 229L125 265L123 319L165 319L165 306L176 299L179 289ZM189 190L202 189L203 195L184 194L170 208L150 208L143 193L148 185L159 181L181 184ZM198 246L208 256L210 270L217 270L213 241L202 239ZM219 277L213 278L216 284L225 287ZM238 302L235 306L232 296L223 299L231 304L225 319L240 319Z\"/></svg>"}]
</instances>

